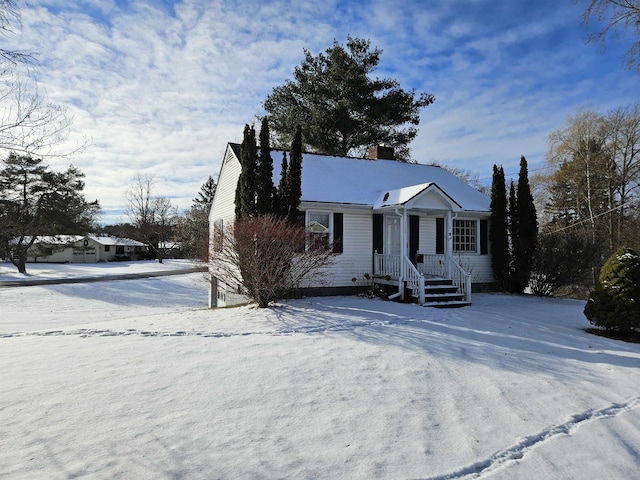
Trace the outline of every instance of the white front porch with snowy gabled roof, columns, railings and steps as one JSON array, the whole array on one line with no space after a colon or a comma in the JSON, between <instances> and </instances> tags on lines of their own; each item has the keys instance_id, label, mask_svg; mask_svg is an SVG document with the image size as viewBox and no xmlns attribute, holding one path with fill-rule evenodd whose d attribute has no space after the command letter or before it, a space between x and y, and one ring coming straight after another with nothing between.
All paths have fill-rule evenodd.
<instances>
[{"instance_id":1,"label":"white front porch with snowy gabled roof, columns, railings and steps","mask_svg":"<svg viewBox=\"0 0 640 480\"><path fill-rule=\"evenodd\" d=\"M389 298L420 305L471 304L471 275L453 258L453 223L463 208L435 183L391 190L374 205L373 283Z\"/></svg>"}]
</instances>

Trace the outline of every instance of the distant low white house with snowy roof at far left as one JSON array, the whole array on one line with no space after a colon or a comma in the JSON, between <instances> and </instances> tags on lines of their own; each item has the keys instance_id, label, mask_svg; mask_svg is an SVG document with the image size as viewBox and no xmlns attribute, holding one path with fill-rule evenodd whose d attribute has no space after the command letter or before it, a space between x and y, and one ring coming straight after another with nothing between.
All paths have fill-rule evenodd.
<instances>
[{"instance_id":1,"label":"distant low white house with snowy roof at far left","mask_svg":"<svg viewBox=\"0 0 640 480\"><path fill-rule=\"evenodd\" d=\"M97 263L140 260L148 247L130 238L108 235L41 236L28 251L28 262Z\"/></svg>"}]
</instances>

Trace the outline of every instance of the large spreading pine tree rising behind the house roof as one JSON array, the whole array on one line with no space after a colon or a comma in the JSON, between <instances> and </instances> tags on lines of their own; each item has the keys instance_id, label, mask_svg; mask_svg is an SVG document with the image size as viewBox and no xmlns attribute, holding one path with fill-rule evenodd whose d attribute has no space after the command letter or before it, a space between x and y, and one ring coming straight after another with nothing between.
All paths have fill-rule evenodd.
<instances>
[{"instance_id":1,"label":"large spreading pine tree rising behind the house roof","mask_svg":"<svg viewBox=\"0 0 640 480\"><path fill-rule=\"evenodd\" d=\"M302 125L305 148L330 155L364 155L369 147L393 145L397 159L409 159L409 143L420 123L420 110L431 94L403 90L397 80L372 77L380 61L369 40L334 41L324 53L305 59L293 79L275 87L264 102L278 146L293 139Z\"/></svg>"}]
</instances>

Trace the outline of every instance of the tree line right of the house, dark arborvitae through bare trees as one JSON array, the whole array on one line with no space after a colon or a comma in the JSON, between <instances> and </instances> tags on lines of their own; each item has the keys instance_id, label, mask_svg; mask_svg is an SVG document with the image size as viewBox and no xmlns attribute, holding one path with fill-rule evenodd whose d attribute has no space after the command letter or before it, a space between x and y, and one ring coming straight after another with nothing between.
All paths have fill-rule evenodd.
<instances>
[{"instance_id":1,"label":"tree line right of the house, dark arborvitae through bare trees","mask_svg":"<svg viewBox=\"0 0 640 480\"><path fill-rule=\"evenodd\" d=\"M613 252L640 247L640 103L570 116L549 134L545 161L548 173L534 177L537 209L528 200L524 157L518 187L511 184L508 198L504 171L493 167L490 235L496 280L506 291L529 287L551 295L577 288L574 293L586 295Z\"/></svg>"}]
</instances>

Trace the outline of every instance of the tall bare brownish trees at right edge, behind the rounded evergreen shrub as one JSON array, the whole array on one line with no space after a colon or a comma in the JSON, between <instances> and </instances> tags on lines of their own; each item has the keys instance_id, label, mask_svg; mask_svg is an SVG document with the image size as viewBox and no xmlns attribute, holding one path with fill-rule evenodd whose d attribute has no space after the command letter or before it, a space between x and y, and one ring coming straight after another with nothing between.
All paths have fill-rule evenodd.
<instances>
[{"instance_id":1,"label":"tall bare brownish trees at right edge, behind the rounded evergreen shrub","mask_svg":"<svg viewBox=\"0 0 640 480\"><path fill-rule=\"evenodd\" d=\"M640 104L601 115L583 110L549 136L545 183L551 221L588 229L609 253L637 239L640 204ZM606 256L608 256L608 253Z\"/></svg>"}]
</instances>

